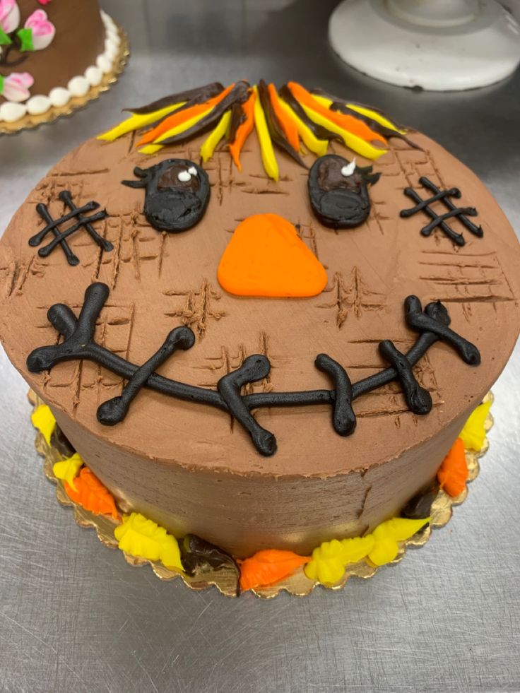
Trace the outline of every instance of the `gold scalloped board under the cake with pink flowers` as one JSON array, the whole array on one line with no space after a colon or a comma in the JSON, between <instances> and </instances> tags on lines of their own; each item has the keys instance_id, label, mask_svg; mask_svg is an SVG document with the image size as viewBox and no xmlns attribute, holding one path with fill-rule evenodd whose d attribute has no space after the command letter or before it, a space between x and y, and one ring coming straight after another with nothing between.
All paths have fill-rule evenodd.
<instances>
[{"instance_id":1,"label":"gold scalloped board under the cake with pink flowers","mask_svg":"<svg viewBox=\"0 0 520 693\"><path fill-rule=\"evenodd\" d=\"M124 66L128 62L130 55L130 47L128 37L123 28L114 22L117 26L117 32L121 43L119 44L119 53L114 59L112 71L103 75L102 81L96 87L91 87L85 96L73 96L64 106L52 106L49 110L40 115L26 114L23 118L16 120L13 123L0 122L0 134L13 135L20 130L31 130L37 128L44 123L52 123L57 118L69 116L79 108L85 107L88 102L98 99L100 94L110 89L112 84L115 84L122 73Z\"/></svg>"}]
</instances>

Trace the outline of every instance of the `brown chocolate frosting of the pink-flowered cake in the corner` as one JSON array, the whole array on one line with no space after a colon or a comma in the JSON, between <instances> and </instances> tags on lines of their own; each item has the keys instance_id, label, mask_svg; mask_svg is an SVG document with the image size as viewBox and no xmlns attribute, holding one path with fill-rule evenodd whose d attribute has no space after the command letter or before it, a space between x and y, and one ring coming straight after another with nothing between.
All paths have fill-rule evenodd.
<instances>
[{"instance_id":1,"label":"brown chocolate frosting of the pink-flowered cake in the corner","mask_svg":"<svg viewBox=\"0 0 520 693\"><path fill-rule=\"evenodd\" d=\"M32 96L47 95L54 87L66 87L71 78L83 75L95 65L105 49L105 28L98 0L54 0L42 7L35 0L17 0L20 27L37 9L47 12L56 28L52 43L41 51L24 53L27 58L13 68L0 66L7 76L11 72L28 72L34 78ZM0 103L5 99L0 96Z\"/></svg>"}]
</instances>

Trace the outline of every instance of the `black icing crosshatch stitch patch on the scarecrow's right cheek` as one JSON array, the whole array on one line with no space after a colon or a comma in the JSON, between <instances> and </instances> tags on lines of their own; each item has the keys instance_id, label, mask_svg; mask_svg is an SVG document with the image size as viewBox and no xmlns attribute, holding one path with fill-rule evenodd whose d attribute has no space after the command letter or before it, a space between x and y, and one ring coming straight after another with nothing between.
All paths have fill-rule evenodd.
<instances>
[{"instance_id":1,"label":"black icing crosshatch stitch patch on the scarecrow's right cheek","mask_svg":"<svg viewBox=\"0 0 520 693\"><path fill-rule=\"evenodd\" d=\"M473 224L472 221L470 221L467 217L475 217L478 215L478 212L474 207L457 207L454 205L454 203L449 199L450 197L455 197L456 199L459 199L461 196L461 191L459 188L450 188L449 190L439 190L435 184L433 184L430 179L427 179L425 176L421 176L419 179L419 182L421 185L423 185L425 188L428 190L432 191L433 196L430 197L430 199L423 200L422 197L415 192L413 188L405 188L404 189L404 194L408 195L411 199L413 199L414 202L417 204L415 207L412 207L410 209L403 209L400 212L401 217L410 217L411 215L415 214L416 212L423 211L425 214L427 214L432 221L430 221L429 224L426 226L423 226L423 228L420 230L420 232L423 234L423 236L430 236L433 232L433 230L439 226L444 233L447 235L449 239L451 239L456 245L463 246L466 244L466 241L464 240L464 237L461 233L457 233L454 231L447 223L447 219L451 218L458 218L461 223L470 231L473 233L475 236L478 236L478 238L482 238L484 235L483 229L481 226L476 226ZM437 200L442 201L444 205L447 207L448 211L444 214L438 215L430 209L430 204L437 202Z\"/></svg>"}]
</instances>

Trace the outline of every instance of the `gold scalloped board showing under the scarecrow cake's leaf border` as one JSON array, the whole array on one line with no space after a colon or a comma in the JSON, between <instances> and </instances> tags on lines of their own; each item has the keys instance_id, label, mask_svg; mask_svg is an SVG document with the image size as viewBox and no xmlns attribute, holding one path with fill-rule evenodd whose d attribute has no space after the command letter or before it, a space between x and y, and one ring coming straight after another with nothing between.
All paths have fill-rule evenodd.
<instances>
[{"instance_id":1,"label":"gold scalloped board showing under the scarecrow cake's leaf border","mask_svg":"<svg viewBox=\"0 0 520 693\"><path fill-rule=\"evenodd\" d=\"M40 404L45 404L45 402L38 398L32 391L29 392L28 398L30 403L33 405L33 408L36 408ZM492 401L492 398L492 393L489 392L488 395L485 396L483 401ZM492 425L492 415L488 414L488 417L485 421L486 433L490 431ZM466 451L466 463L468 465L469 472L468 482L471 482L478 477L478 473L480 471L478 461L479 458L485 455L485 453L488 451L488 446L488 439L486 438L484 446L480 450L480 452L473 453ZM54 463L61 460L63 456L59 454L59 451L57 451L56 448L47 445L47 442L45 442L45 438L42 436L41 433L38 433L36 436L35 447L37 452L44 458L43 468L45 471L45 475L50 481L54 482L57 485L56 497L58 501L62 505L69 505L73 507L74 519L80 527L94 528L96 534L98 535L98 539L102 544L105 544L105 546L110 547L112 549L117 548L117 540L114 538L114 528L118 524L117 521L113 520L110 516L93 515L91 512L83 509L80 505L71 501L71 499L64 490L64 483L58 480L54 476L54 472L52 471L52 466L54 465ZM420 530L410 539L401 543L401 549L399 550L397 557L394 559L394 561L391 562L391 564L395 564L401 561L401 559L403 559L403 556L405 555L407 548L415 548L425 545L425 543L427 543L427 540L430 539L432 528L444 527L444 525L447 524L449 519L451 518L451 515L453 513L453 506L460 505L461 503L463 503L466 500L467 496L468 487L466 487L466 489L463 490L463 492L455 498L451 498L446 492L439 490L439 492L437 493L437 497L435 498L435 501L432 504L432 521L430 525ZM136 558L134 556L129 556L124 552L123 555L126 562L132 566L141 567L143 565L150 564L155 575L158 576L158 578L160 578L161 580L173 580L176 578L180 578L182 579L182 581L184 581L184 584L186 584L189 588L194 590L203 590L214 585L218 589L218 591L223 593L225 596L237 596L237 576L235 572L232 570L223 568L218 571L201 572L195 574L194 577L190 577L182 572L167 569L159 562L149 561L143 558ZM374 576L377 573L377 571L379 571L379 569L380 567L370 565L365 559L363 559L358 563L349 564L343 578L338 583L334 585L322 586L331 590L341 590L347 583L348 579L350 579L351 577L355 576L358 578L367 579ZM303 568L300 568L289 578L277 583L276 585L259 588L252 591L256 594L256 596L265 599L276 597L281 591L286 591L295 596L303 597L311 593L314 587L317 586L317 584L319 583L307 578L303 571Z\"/></svg>"}]
</instances>

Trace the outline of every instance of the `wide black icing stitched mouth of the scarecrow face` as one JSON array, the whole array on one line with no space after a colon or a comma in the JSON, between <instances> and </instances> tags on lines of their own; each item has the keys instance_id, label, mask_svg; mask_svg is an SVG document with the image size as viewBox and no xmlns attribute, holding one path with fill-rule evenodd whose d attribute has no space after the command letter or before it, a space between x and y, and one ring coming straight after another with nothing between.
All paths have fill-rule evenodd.
<instances>
[{"instance_id":1,"label":"wide black icing stitched mouth of the scarecrow face","mask_svg":"<svg viewBox=\"0 0 520 693\"><path fill-rule=\"evenodd\" d=\"M216 390L208 390L165 378L154 372L155 368L175 350L187 350L194 345L195 336L189 327L177 327L172 330L158 352L141 367L96 343L95 324L108 295L109 288L106 284L91 284L85 291L85 300L78 318L62 303L50 307L47 313L49 322L65 339L61 344L33 350L27 359L30 372L40 373L63 361L93 361L129 381L121 396L100 405L98 419L101 423L113 425L122 421L131 401L138 391L146 386L180 400L211 405L232 414L252 437L259 453L265 456L271 456L276 452L276 438L254 419L252 409L328 404L333 408L334 430L341 436L348 436L354 432L356 425L353 401L394 380L401 382L408 408L413 413L424 415L430 412L430 393L418 384L412 368L437 340L442 340L454 348L468 365L480 364L480 353L475 345L449 328L449 314L441 302L427 304L423 312L418 297L408 296L404 302L406 322L413 330L420 332L420 335L406 354L399 352L390 340L379 343L380 353L391 364L379 373L351 384L343 366L330 356L319 354L315 365L329 374L333 380L333 389L242 395L240 389L244 384L265 378L271 369L266 356L255 354L247 357L235 371L220 378Z\"/></svg>"}]
</instances>

